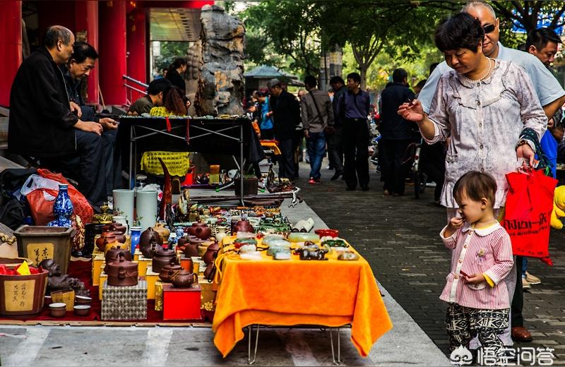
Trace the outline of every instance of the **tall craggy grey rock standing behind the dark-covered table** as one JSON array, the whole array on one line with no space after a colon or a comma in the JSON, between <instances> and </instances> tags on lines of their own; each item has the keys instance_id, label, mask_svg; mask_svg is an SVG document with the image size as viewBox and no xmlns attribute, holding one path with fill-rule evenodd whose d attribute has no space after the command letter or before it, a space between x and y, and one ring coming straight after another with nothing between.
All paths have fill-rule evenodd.
<instances>
[{"instance_id":1,"label":"tall craggy grey rock standing behind the dark-covered table","mask_svg":"<svg viewBox=\"0 0 565 367\"><path fill-rule=\"evenodd\" d=\"M245 27L216 5L203 6L202 64L196 112L198 116L242 115Z\"/></svg>"}]
</instances>

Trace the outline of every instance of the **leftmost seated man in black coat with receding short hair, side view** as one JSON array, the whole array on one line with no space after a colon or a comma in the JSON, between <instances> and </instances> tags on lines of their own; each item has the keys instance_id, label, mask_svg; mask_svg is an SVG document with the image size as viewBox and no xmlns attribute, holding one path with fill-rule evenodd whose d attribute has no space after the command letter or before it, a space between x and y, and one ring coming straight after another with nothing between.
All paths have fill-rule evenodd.
<instances>
[{"instance_id":1,"label":"leftmost seated man in black coat with receding short hair, side view","mask_svg":"<svg viewBox=\"0 0 565 367\"><path fill-rule=\"evenodd\" d=\"M103 126L79 119L76 105L71 111L59 68L71 58L73 43L70 30L54 25L45 34L44 47L20 65L10 92L8 149L57 163L64 174L66 160L78 156L78 190L100 205L106 198L100 138Z\"/></svg>"}]
</instances>

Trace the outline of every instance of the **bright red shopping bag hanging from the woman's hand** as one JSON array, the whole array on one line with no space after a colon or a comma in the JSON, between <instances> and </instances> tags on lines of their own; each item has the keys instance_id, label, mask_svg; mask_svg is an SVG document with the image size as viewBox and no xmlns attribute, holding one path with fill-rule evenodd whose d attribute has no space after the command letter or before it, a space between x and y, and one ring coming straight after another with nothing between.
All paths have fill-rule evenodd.
<instances>
[{"instance_id":1,"label":"bright red shopping bag hanging from the woman's hand","mask_svg":"<svg viewBox=\"0 0 565 367\"><path fill-rule=\"evenodd\" d=\"M506 179L510 189L502 225L510 235L514 255L540 258L553 265L549 258L549 217L557 180L541 170L512 172Z\"/></svg>"}]
</instances>

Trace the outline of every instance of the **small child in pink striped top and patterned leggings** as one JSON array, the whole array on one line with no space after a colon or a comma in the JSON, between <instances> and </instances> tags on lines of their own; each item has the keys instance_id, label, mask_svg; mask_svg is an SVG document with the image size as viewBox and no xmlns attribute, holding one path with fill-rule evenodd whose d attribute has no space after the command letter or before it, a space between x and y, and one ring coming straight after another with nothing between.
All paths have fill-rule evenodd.
<instances>
[{"instance_id":1,"label":"small child in pink striped top and patterned leggings","mask_svg":"<svg viewBox=\"0 0 565 367\"><path fill-rule=\"evenodd\" d=\"M494 178L476 171L461 176L453 187L460 217L452 218L440 233L453 253L439 298L448 302L451 350L460 345L469 348L478 335L482 346L500 358L504 347L499 335L508 327L510 308L504 279L513 258L510 236L494 218L495 193Z\"/></svg>"}]
</instances>

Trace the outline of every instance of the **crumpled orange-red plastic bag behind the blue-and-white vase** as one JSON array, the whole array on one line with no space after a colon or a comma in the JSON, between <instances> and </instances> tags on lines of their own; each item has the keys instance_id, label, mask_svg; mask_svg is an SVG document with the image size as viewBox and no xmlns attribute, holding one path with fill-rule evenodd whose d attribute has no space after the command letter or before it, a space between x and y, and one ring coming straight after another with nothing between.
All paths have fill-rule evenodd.
<instances>
[{"instance_id":1,"label":"crumpled orange-red plastic bag behind the blue-and-white vase","mask_svg":"<svg viewBox=\"0 0 565 367\"><path fill-rule=\"evenodd\" d=\"M30 211L35 225L44 226L55 219L53 204L57 194L59 194L58 183L67 183L69 185L69 198L71 198L71 203L73 203L73 213L81 217L83 223L90 223L92 221L94 215L93 207L90 206L84 195L75 186L71 185L69 181L66 181L61 174L54 174L47 169L37 169L37 176L35 178L30 176L30 179L28 179L28 181L35 179L35 186L28 189L28 191L23 189L25 197L30 204ZM41 178L45 180L41 180ZM26 181L26 184L28 184L28 181ZM57 184L54 185L54 181Z\"/></svg>"}]
</instances>

